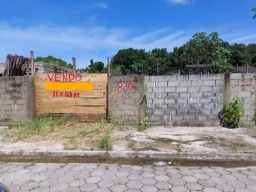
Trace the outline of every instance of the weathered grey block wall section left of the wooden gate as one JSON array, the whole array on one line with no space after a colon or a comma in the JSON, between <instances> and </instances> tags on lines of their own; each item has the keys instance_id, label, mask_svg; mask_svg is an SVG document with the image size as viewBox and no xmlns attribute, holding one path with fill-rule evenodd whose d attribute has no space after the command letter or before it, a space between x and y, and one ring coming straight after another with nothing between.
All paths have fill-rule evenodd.
<instances>
[{"instance_id":1,"label":"weathered grey block wall section left of the wooden gate","mask_svg":"<svg viewBox=\"0 0 256 192\"><path fill-rule=\"evenodd\" d=\"M0 77L0 125L35 117L34 79L31 76Z\"/></svg>"}]
</instances>

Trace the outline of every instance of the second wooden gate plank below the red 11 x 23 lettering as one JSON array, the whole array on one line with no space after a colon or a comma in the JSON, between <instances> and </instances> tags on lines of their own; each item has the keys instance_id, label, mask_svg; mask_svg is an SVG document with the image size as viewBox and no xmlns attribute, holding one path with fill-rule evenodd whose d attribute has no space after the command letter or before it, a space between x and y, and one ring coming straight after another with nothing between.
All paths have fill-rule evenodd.
<instances>
[{"instance_id":1,"label":"second wooden gate plank below the red 11 x 23 lettering","mask_svg":"<svg viewBox=\"0 0 256 192\"><path fill-rule=\"evenodd\" d=\"M99 107L87 107L87 106L65 106L65 104L55 104L54 106L38 106L36 105L36 114L47 114L47 113L75 113L75 114L99 114L106 113L106 106Z\"/></svg>"}]
</instances>

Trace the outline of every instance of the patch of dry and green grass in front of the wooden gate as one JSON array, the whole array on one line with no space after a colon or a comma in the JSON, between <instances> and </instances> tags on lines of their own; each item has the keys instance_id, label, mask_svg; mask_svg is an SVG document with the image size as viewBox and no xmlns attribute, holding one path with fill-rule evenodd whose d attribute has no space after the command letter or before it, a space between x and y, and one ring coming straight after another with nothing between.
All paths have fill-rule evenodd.
<instances>
[{"instance_id":1,"label":"patch of dry and green grass in front of the wooden gate","mask_svg":"<svg viewBox=\"0 0 256 192\"><path fill-rule=\"evenodd\" d=\"M126 127L109 124L104 119L78 122L68 116L39 116L32 122L18 120L0 131L0 135L4 142L65 140L67 149L94 150L100 149L98 143L101 138L107 137L111 141L114 131L124 129Z\"/></svg>"}]
</instances>

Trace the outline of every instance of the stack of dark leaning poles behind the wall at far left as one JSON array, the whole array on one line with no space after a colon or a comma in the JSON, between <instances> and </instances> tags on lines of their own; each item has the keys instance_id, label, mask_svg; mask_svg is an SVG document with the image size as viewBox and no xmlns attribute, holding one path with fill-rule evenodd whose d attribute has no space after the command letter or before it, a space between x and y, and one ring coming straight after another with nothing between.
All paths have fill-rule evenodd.
<instances>
[{"instance_id":1,"label":"stack of dark leaning poles behind the wall at far left","mask_svg":"<svg viewBox=\"0 0 256 192\"><path fill-rule=\"evenodd\" d=\"M25 76L30 63L31 61L29 58L8 54L6 56L4 76Z\"/></svg>"}]
</instances>

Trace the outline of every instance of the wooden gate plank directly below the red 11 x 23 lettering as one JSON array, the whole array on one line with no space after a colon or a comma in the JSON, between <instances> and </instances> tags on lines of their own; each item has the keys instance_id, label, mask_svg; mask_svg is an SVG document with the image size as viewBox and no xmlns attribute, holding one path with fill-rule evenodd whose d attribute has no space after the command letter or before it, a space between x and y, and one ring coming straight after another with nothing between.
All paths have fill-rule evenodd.
<instances>
[{"instance_id":1,"label":"wooden gate plank directly below the red 11 x 23 lettering","mask_svg":"<svg viewBox=\"0 0 256 192\"><path fill-rule=\"evenodd\" d=\"M65 106L107 106L106 98L99 99L83 99L83 98L38 98L36 99L36 105L49 106L56 103L65 103Z\"/></svg>"}]
</instances>

